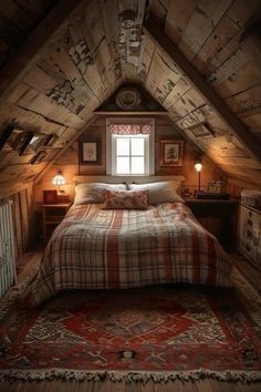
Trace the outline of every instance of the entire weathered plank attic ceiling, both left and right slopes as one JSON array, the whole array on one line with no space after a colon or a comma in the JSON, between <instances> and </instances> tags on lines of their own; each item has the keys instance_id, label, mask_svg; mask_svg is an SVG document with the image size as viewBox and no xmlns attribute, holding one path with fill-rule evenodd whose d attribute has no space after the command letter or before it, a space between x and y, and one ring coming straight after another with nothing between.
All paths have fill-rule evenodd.
<instances>
[{"instance_id":1,"label":"entire weathered plank attic ceiling, both left and right slopes","mask_svg":"<svg viewBox=\"0 0 261 392\"><path fill-rule=\"evenodd\" d=\"M0 52L1 64L10 58L0 72L0 132L13 124L56 134L53 158L86 128L95 109L116 89L139 84L168 111L180 133L228 176L261 185L260 0L63 0L49 4L52 10L23 44L19 47L18 41L8 54ZM17 20L17 8L4 12L8 21ZM223 100L242 132L237 122L228 123L205 90L166 52L154 37L156 28L160 40L170 40ZM13 30L6 35L0 35L1 48ZM202 123L207 136L200 136ZM1 188L17 179L32 180L51 161L31 165L31 158L30 153L19 156L15 151L2 151Z\"/></svg>"}]
</instances>

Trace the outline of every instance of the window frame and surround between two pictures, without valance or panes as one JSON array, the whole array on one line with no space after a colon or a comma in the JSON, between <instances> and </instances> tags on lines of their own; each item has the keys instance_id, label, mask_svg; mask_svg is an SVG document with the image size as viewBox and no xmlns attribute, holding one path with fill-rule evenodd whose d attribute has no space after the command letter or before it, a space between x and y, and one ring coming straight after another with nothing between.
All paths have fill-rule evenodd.
<instances>
[{"instance_id":1,"label":"window frame and surround between two pictures, without valance or panes","mask_svg":"<svg viewBox=\"0 0 261 392\"><path fill-rule=\"evenodd\" d=\"M107 131L111 124L140 124L152 126L149 134L143 135L114 135ZM145 138L145 173L144 174L117 174L116 173L116 138L117 137L144 137ZM155 174L155 120L152 117L115 117L106 118L106 174L113 176L148 176Z\"/></svg>"}]
</instances>

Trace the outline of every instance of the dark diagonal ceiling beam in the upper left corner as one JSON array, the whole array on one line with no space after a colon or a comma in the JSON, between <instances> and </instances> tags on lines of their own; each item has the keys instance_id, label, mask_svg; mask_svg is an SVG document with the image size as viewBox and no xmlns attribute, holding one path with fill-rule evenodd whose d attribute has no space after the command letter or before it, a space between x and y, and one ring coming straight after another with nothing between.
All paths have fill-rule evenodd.
<instances>
[{"instance_id":1,"label":"dark diagonal ceiling beam in the upper left corner","mask_svg":"<svg viewBox=\"0 0 261 392\"><path fill-rule=\"evenodd\" d=\"M90 0L84 0L84 3L87 1ZM9 62L0 71L0 104L7 100L13 86L22 79L29 63L36 56L44 43L59 31L64 20L76 8L80 8L82 2L80 0L60 0L24 43L14 51Z\"/></svg>"}]
</instances>

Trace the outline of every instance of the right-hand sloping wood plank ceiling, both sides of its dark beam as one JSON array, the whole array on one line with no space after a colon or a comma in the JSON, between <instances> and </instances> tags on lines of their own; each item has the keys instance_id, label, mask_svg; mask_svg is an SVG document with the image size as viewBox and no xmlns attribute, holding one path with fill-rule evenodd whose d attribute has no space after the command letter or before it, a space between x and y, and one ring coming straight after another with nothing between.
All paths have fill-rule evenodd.
<instances>
[{"instance_id":1,"label":"right-hand sloping wood plank ceiling, both sides of its dark beam","mask_svg":"<svg viewBox=\"0 0 261 392\"><path fill-rule=\"evenodd\" d=\"M155 0L152 13L260 143L260 1ZM182 132L229 176L261 186L260 162L147 37L142 64L142 83L169 111ZM189 130L202 122L208 124L212 137L196 138Z\"/></svg>"}]
</instances>

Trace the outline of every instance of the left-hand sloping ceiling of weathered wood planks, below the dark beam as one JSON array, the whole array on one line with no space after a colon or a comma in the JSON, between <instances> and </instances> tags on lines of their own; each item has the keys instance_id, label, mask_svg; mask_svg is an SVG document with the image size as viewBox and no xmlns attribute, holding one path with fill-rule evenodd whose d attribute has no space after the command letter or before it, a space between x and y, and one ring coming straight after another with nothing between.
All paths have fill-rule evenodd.
<instances>
[{"instance_id":1,"label":"left-hand sloping ceiling of weathered wood planks, below the dark beam","mask_svg":"<svg viewBox=\"0 0 261 392\"><path fill-rule=\"evenodd\" d=\"M52 2L49 1L50 6ZM113 6L107 12L118 16L117 1ZM106 23L101 19L102 12ZM0 152L0 183L4 185L4 194L12 193L12 184L35 178L121 84L117 50L112 50L117 20L116 24L109 23L103 2L79 2L76 11L43 48L39 48L35 59L24 62L11 92L4 100L0 96L0 134L7 124L14 124L21 130L58 136L42 163L30 164L32 154L19 156L15 151ZM4 82L7 84L0 80ZM0 197L1 194L0 190Z\"/></svg>"}]
</instances>

